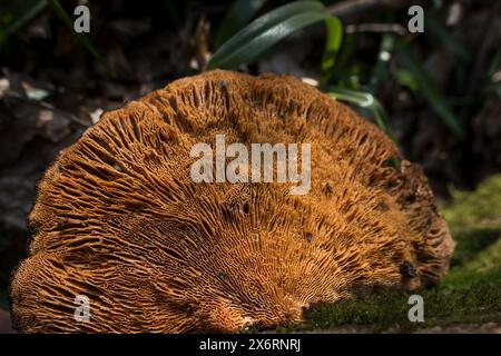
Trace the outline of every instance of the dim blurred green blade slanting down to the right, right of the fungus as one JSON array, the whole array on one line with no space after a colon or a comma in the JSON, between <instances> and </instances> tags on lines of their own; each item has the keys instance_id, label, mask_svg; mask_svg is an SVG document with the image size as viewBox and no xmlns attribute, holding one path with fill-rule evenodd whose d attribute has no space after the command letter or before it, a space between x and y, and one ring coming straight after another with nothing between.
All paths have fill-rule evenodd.
<instances>
[{"instance_id":1,"label":"dim blurred green blade slanting down to the right, right of the fungus","mask_svg":"<svg viewBox=\"0 0 501 356\"><path fill-rule=\"evenodd\" d=\"M415 59L414 53L409 49L406 43L401 43L399 52L403 65L414 76L420 89L430 102L432 109L440 116L446 127L451 129L458 137L464 137L464 129L449 108L444 95L440 91L436 83L426 73L421 63Z\"/></svg>"}]
</instances>

